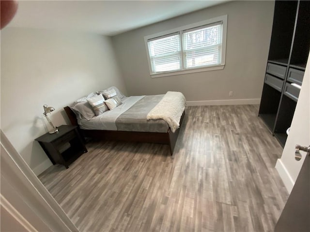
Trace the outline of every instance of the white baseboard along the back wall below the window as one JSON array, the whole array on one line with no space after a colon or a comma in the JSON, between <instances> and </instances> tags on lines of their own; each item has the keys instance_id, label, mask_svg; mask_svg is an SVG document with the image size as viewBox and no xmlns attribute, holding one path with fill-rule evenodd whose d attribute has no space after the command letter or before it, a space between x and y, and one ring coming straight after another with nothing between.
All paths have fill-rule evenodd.
<instances>
[{"instance_id":1,"label":"white baseboard along the back wall below the window","mask_svg":"<svg viewBox=\"0 0 310 232\"><path fill-rule=\"evenodd\" d=\"M233 99L233 100L211 100L211 101L188 101L187 106L195 105L256 105L261 102L260 98Z\"/></svg>"}]
</instances>

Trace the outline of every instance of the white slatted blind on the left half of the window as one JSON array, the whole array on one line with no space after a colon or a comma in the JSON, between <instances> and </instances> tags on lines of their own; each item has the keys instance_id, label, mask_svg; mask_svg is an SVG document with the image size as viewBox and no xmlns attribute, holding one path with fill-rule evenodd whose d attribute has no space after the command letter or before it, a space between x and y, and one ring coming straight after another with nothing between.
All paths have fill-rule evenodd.
<instances>
[{"instance_id":1,"label":"white slatted blind on the left half of the window","mask_svg":"<svg viewBox=\"0 0 310 232\"><path fill-rule=\"evenodd\" d=\"M153 73L181 70L180 33L148 40Z\"/></svg>"}]
</instances>

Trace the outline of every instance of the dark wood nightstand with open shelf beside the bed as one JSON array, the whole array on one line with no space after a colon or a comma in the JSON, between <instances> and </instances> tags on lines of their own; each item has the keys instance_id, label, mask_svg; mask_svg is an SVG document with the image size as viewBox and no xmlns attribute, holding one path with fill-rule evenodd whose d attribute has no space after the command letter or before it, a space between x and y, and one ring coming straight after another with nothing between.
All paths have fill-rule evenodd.
<instances>
[{"instance_id":1,"label":"dark wood nightstand with open shelf beside the bed","mask_svg":"<svg viewBox=\"0 0 310 232\"><path fill-rule=\"evenodd\" d=\"M60 163L66 168L80 155L87 152L77 126L62 125L58 133L46 133L38 141L53 164Z\"/></svg>"}]
</instances>

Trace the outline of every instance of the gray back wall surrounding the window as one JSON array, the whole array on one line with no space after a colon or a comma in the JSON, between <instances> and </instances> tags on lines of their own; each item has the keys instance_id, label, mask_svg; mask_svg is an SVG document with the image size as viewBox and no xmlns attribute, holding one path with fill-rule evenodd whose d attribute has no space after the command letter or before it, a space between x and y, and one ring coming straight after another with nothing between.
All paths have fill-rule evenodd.
<instances>
[{"instance_id":1,"label":"gray back wall surrounding the window","mask_svg":"<svg viewBox=\"0 0 310 232\"><path fill-rule=\"evenodd\" d=\"M183 92L187 101L255 99L254 102L258 103L268 57L273 9L274 1L231 1L112 37L128 94L163 94L173 90ZM228 15L224 70L150 77L144 36L224 14ZM229 97L229 91L233 91L233 97Z\"/></svg>"}]
</instances>

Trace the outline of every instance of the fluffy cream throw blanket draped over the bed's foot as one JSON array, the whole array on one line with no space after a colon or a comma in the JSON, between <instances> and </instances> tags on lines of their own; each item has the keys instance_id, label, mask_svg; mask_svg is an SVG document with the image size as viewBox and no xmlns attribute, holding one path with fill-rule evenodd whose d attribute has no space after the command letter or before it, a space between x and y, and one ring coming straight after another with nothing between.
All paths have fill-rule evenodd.
<instances>
[{"instance_id":1,"label":"fluffy cream throw blanket draped over the bed's foot","mask_svg":"<svg viewBox=\"0 0 310 232\"><path fill-rule=\"evenodd\" d=\"M163 119L174 133L180 127L180 119L185 109L183 93L168 91L163 99L147 114L146 118Z\"/></svg>"}]
</instances>

